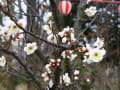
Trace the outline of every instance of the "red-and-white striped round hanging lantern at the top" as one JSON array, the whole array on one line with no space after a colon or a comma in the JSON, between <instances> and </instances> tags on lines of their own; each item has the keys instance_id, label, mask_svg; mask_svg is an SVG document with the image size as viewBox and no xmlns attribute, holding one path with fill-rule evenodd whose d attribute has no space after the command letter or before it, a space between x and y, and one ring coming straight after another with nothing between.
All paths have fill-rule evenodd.
<instances>
[{"instance_id":1,"label":"red-and-white striped round hanging lantern at the top","mask_svg":"<svg viewBox=\"0 0 120 90\"><path fill-rule=\"evenodd\" d=\"M60 1L59 11L62 15L68 15L72 9L72 4L68 0Z\"/></svg>"}]
</instances>

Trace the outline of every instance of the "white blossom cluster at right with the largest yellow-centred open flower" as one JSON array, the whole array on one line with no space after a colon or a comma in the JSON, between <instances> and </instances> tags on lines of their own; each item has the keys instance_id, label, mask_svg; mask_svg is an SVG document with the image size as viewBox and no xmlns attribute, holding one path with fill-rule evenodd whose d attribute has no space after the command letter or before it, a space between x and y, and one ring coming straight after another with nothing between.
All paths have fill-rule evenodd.
<instances>
[{"instance_id":1,"label":"white blossom cluster at right with the largest yellow-centred open flower","mask_svg":"<svg viewBox=\"0 0 120 90\"><path fill-rule=\"evenodd\" d=\"M103 38L97 38L97 41L91 46L90 44L86 44L87 51L84 55L83 62L86 62L88 64L91 64L93 62L100 62L106 51L103 48L104 45L104 39Z\"/></svg>"}]
</instances>

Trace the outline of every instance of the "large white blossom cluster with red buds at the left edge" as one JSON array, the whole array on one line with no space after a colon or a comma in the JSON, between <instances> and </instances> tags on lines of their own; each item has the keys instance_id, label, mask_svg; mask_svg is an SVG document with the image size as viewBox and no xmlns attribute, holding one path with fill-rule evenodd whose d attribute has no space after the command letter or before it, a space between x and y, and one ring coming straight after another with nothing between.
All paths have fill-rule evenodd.
<instances>
[{"instance_id":1,"label":"large white blossom cluster with red buds at the left edge","mask_svg":"<svg viewBox=\"0 0 120 90\"><path fill-rule=\"evenodd\" d=\"M21 27L25 28L26 23L23 19L17 22ZM24 38L23 31L9 18L6 19L5 25L0 26L0 38L2 42L12 40L12 45L18 46L20 39Z\"/></svg>"}]
</instances>

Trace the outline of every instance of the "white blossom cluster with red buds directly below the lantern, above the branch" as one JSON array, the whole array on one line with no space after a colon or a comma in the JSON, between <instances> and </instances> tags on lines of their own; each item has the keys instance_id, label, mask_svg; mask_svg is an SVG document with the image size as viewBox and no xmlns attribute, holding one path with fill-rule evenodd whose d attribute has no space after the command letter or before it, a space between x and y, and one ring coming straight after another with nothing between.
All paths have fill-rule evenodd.
<instances>
[{"instance_id":1,"label":"white blossom cluster with red buds directly below the lantern, above the branch","mask_svg":"<svg viewBox=\"0 0 120 90\"><path fill-rule=\"evenodd\" d=\"M59 32L58 35L64 44L71 44L76 41L73 28L66 27L61 32Z\"/></svg>"}]
</instances>

